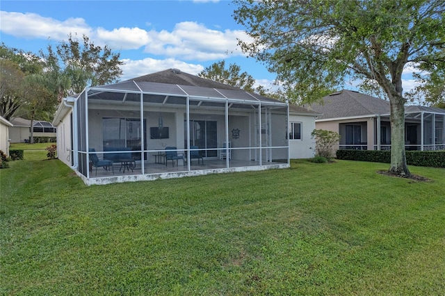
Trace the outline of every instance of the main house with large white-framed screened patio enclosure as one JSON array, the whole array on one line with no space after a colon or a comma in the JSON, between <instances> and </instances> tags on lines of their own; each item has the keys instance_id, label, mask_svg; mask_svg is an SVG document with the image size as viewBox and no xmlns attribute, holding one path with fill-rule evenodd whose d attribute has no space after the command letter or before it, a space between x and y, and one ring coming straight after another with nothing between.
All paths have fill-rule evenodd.
<instances>
[{"instance_id":1,"label":"main house with large white-framed screened patio enclosure","mask_svg":"<svg viewBox=\"0 0 445 296\"><path fill-rule=\"evenodd\" d=\"M289 167L288 106L167 69L67 97L53 124L59 159L104 184Z\"/></svg>"}]
</instances>

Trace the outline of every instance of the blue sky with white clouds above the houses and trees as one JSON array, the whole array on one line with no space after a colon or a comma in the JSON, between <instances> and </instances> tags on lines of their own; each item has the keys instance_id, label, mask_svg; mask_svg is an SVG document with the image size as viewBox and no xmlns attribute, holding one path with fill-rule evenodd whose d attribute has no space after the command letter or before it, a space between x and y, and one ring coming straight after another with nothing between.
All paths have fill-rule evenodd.
<instances>
[{"instance_id":1,"label":"blue sky with white clouds above the houses and trees","mask_svg":"<svg viewBox=\"0 0 445 296\"><path fill-rule=\"evenodd\" d=\"M258 85L273 88L275 74L238 47L250 40L234 20L236 6L223 0L176 1L0 1L0 42L38 54L76 34L120 53L126 80L181 69L198 74L225 60L236 63ZM404 90L414 83L407 68ZM355 85L346 88L355 90Z\"/></svg>"}]
</instances>

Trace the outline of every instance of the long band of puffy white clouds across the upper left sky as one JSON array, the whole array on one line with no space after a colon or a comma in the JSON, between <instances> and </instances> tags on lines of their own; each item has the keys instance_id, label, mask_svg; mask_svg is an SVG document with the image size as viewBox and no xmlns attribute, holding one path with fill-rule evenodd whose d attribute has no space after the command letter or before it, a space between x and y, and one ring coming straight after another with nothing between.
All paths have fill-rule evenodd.
<instances>
[{"instance_id":1,"label":"long band of puffy white clouds across the upper left sky","mask_svg":"<svg viewBox=\"0 0 445 296\"><path fill-rule=\"evenodd\" d=\"M67 40L72 33L87 35L97 45L108 44L112 49L126 50L145 47L145 53L184 60L220 60L242 56L237 38L249 40L241 30L211 30L196 22L181 22L170 31L146 31L142 28L91 28L82 18L58 21L35 13L1 12L2 33L21 38Z\"/></svg>"}]
</instances>

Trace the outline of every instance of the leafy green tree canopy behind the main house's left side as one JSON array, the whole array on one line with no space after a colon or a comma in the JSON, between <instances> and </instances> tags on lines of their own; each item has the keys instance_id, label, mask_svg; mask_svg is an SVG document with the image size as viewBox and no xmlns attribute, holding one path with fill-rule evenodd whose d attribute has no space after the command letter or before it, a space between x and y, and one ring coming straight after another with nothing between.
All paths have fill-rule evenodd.
<instances>
[{"instance_id":1,"label":"leafy green tree canopy behind the main house's left side","mask_svg":"<svg viewBox=\"0 0 445 296\"><path fill-rule=\"evenodd\" d=\"M33 120L52 117L56 105L70 93L87 86L115 82L122 74L120 54L108 46L99 47L83 35L79 42L73 35L40 56L0 47L0 115L10 120L18 115Z\"/></svg>"}]
</instances>

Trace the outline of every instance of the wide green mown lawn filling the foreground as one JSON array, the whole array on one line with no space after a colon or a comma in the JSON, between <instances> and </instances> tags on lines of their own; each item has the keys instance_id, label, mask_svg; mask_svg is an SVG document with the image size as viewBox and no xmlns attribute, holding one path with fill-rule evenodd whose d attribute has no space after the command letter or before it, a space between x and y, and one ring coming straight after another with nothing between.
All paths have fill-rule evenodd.
<instances>
[{"instance_id":1,"label":"wide green mown lawn filling the foreground","mask_svg":"<svg viewBox=\"0 0 445 296\"><path fill-rule=\"evenodd\" d=\"M15 161L0 170L0 295L445 295L445 170L387 168L87 187L60 161Z\"/></svg>"}]
</instances>

